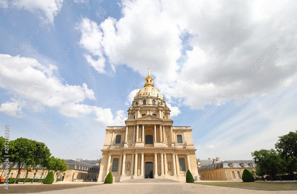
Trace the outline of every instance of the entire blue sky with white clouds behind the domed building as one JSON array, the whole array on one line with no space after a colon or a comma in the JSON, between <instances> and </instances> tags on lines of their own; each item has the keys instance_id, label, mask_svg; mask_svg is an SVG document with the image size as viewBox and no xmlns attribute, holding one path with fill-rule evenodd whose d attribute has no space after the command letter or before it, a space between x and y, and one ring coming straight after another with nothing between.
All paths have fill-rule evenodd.
<instances>
[{"instance_id":1,"label":"entire blue sky with white clouds behind the domed building","mask_svg":"<svg viewBox=\"0 0 297 194\"><path fill-rule=\"evenodd\" d=\"M295 1L0 0L0 125L99 159L148 65L196 157L252 159L296 131ZM73 147L72 149L70 149Z\"/></svg>"}]
</instances>

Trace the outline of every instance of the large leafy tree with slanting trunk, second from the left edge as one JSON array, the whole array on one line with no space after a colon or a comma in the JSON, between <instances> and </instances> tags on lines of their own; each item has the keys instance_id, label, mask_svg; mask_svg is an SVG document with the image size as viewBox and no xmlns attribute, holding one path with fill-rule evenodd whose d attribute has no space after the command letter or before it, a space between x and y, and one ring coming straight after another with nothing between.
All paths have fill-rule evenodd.
<instances>
[{"instance_id":1,"label":"large leafy tree with slanting trunk, second from the left edge","mask_svg":"<svg viewBox=\"0 0 297 194\"><path fill-rule=\"evenodd\" d=\"M30 158L34 156L34 150L36 149L33 140L26 138L18 138L9 142L10 160L15 164L18 164L18 175L26 163L29 163ZM17 179L14 180L14 184Z\"/></svg>"}]
</instances>

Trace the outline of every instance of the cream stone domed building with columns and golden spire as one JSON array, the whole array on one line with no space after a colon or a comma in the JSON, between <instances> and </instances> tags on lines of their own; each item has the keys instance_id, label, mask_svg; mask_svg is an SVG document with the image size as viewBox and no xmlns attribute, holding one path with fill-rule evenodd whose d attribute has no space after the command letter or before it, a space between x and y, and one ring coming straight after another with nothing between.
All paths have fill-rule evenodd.
<instances>
[{"instance_id":1,"label":"cream stone domed building with columns and golden spire","mask_svg":"<svg viewBox=\"0 0 297 194\"><path fill-rule=\"evenodd\" d=\"M98 182L104 182L109 172L114 182L144 178L185 182L188 169L199 178L192 129L172 126L170 109L153 80L149 69L144 88L127 110L126 126L105 129Z\"/></svg>"}]
</instances>

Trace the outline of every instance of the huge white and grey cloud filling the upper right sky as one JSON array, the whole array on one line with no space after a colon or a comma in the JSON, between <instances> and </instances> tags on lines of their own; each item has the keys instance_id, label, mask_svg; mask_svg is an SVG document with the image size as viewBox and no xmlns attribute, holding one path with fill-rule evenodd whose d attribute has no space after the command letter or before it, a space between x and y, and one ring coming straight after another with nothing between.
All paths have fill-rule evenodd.
<instances>
[{"instance_id":1,"label":"huge white and grey cloud filling the upper right sky","mask_svg":"<svg viewBox=\"0 0 297 194\"><path fill-rule=\"evenodd\" d=\"M149 64L170 103L202 109L265 95L296 73L296 2L287 3L123 0L121 19L83 18L78 29L98 72L126 64L145 76Z\"/></svg>"}]
</instances>

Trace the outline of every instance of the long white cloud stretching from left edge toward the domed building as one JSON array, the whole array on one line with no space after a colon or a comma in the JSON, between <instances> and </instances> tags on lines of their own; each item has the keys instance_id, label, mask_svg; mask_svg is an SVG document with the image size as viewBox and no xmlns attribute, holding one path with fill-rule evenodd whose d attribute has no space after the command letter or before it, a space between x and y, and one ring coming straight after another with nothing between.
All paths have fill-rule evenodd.
<instances>
[{"instance_id":1,"label":"long white cloud stretching from left edge toward the domed building","mask_svg":"<svg viewBox=\"0 0 297 194\"><path fill-rule=\"evenodd\" d=\"M2 103L0 111L14 117L23 117L23 108L34 112L44 111L44 106L57 107L62 115L81 117L93 113L102 124L122 124L124 116L118 111L116 119L110 109L83 104L85 99L94 100L94 91L83 83L63 84L55 76L58 68L44 66L34 58L0 54L0 87L12 92L17 98Z\"/></svg>"}]
</instances>

